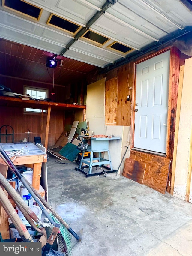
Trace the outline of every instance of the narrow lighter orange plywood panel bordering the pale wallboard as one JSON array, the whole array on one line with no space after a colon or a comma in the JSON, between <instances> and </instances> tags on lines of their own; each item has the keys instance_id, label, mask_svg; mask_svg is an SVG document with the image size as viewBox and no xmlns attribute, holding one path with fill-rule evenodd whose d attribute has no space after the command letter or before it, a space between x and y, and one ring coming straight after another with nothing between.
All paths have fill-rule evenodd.
<instances>
[{"instance_id":1,"label":"narrow lighter orange plywood panel bordering the pale wallboard","mask_svg":"<svg viewBox=\"0 0 192 256\"><path fill-rule=\"evenodd\" d=\"M117 123L117 77L106 81L105 85L105 124Z\"/></svg>"}]
</instances>

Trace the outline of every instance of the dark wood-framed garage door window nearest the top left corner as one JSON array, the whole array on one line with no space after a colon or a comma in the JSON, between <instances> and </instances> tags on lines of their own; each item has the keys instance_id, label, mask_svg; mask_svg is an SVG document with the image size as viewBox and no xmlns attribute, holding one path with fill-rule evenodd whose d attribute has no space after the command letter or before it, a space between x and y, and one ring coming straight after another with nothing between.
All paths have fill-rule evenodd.
<instances>
[{"instance_id":1,"label":"dark wood-framed garage door window nearest the top left corner","mask_svg":"<svg viewBox=\"0 0 192 256\"><path fill-rule=\"evenodd\" d=\"M18 13L24 14L35 20L40 19L41 13L43 11L42 8L29 4L24 0L2 0L2 6Z\"/></svg>"}]
</instances>

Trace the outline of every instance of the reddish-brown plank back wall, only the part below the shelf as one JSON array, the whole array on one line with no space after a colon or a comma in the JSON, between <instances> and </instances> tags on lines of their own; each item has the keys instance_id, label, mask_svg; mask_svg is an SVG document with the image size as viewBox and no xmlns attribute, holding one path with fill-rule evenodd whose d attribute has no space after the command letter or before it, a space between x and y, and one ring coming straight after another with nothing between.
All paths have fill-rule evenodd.
<instances>
[{"instance_id":1,"label":"reddish-brown plank back wall, only the part below the shelf","mask_svg":"<svg viewBox=\"0 0 192 256\"><path fill-rule=\"evenodd\" d=\"M28 128L33 132L30 134L30 141L34 142L35 136L41 134L41 114L26 114L23 113L23 108L19 107L0 107L0 127L2 125L11 125L14 129L14 142L19 142L24 138L27 138L25 132ZM41 143L45 143L45 131L46 131L47 115L44 114L43 119L43 136L41 137ZM50 125L49 125L49 141L48 146L55 144L55 141L61 135L64 130L64 112L63 111L51 111ZM8 142L12 142L10 136ZM5 137L1 137L1 143L5 142Z\"/></svg>"}]
</instances>

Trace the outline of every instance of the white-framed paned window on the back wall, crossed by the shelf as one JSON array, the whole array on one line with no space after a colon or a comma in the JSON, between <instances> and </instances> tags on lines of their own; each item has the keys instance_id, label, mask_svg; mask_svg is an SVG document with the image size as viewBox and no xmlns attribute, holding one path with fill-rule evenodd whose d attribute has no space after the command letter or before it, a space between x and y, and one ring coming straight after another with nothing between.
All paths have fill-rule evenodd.
<instances>
[{"instance_id":1,"label":"white-framed paned window on the back wall, crossed by the shelf","mask_svg":"<svg viewBox=\"0 0 192 256\"><path fill-rule=\"evenodd\" d=\"M48 98L48 93L49 90L48 89L40 89L40 88L34 88L34 87L24 87L24 94L29 94L31 97L33 97L33 99L37 99L40 100L41 98ZM25 112L36 112L36 113L41 113L42 110L41 109L36 109L36 108L25 108L24 109ZM44 110L44 113L46 113L47 111Z\"/></svg>"}]
</instances>

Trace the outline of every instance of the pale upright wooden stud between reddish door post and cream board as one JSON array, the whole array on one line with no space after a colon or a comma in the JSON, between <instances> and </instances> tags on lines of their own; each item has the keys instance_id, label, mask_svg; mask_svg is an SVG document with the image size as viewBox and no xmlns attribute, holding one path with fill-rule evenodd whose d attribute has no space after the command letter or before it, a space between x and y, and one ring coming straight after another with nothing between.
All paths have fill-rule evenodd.
<instances>
[{"instance_id":1,"label":"pale upright wooden stud between reddish door post and cream board","mask_svg":"<svg viewBox=\"0 0 192 256\"><path fill-rule=\"evenodd\" d=\"M180 66L179 71L179 88L177 96L177 111L176 111L176 124L175 124L175 139L173 147L173 161L172 161L172 175L171 175L171 194L173 195L174 183L175 183L175 170L176 170L176 157L177 157L177 143L179 134L179 120L181 111L181 99L182 99L182 88L183 88L183 76L184 76L184 65Z\"/></svg>"}]
</instances>

